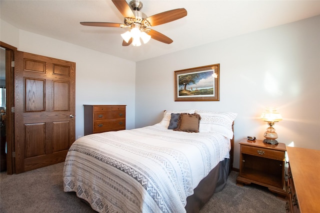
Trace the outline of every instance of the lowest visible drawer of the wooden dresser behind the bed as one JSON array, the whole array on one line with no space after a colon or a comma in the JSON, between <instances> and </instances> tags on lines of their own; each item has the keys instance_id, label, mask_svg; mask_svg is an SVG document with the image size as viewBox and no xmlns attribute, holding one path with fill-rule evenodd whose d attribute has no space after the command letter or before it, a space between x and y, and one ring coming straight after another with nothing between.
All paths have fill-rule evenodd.
<instances>
[{"instance_id":1,"label":"lowest visible drawer of the wooden dresser behind the bed","mask_svg":"<svg viewBox=\"0 0 320 213\"><path fill-rule=\"evenodd\" d=\"M113 131L113 130L124 130L124 129L125 129L125 118L94 121L94 125L93 125L93 133Z\"/></svg>"}]
</instances>

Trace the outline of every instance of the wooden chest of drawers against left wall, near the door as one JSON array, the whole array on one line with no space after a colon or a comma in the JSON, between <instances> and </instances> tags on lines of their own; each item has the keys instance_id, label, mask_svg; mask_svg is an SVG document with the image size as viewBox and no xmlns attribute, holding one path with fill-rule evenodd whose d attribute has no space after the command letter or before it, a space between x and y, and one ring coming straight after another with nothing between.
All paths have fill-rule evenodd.
<instances>
[{"instance_id":1,"label":"wooden chest of drawers against left wall, near the door","mask_svg":"<svg viewBox=\"0 0 320 213\"><path fill-rule=\"evenodd\" d=\"M126 105L83 105L84 135L125 129Z\"/></svg>"}]
</instances>

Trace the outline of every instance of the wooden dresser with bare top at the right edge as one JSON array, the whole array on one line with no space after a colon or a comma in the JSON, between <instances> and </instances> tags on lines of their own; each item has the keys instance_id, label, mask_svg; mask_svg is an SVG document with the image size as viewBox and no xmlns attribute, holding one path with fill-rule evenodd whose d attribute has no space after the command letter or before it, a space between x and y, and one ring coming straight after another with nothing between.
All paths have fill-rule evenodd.
<instances>
[{"instance_id":1,"label":"wooden dresser with bare top at the right edge","mask_svg":"<svg viewBox=\"0 0 320 213\"><path fill-rule=\"evenodd\" d=\"M286 147L289 167L286 211L320 213L320 150Z\"/></svg>"}]
</instances>

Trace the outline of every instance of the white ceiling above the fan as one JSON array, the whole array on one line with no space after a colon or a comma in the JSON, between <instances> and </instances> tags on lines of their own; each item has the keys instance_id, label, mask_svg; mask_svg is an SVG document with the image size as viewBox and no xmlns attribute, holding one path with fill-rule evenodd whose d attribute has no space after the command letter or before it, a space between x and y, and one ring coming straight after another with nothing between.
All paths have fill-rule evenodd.
<instances>
[{"instance_id":1,"label":"white ceiling above the fan","mask_svg":"<svg viewBox=\"0 0 320 213\"><path fill-rule=\"evenodd\" d=\"M130 0L127 0L129 3ZM140 61L320 14L319 0L141 0L147 16L185 8L187 16L151 27L173 40L123 47L125 29L80 25L123 23L111 0L0 0L0 18L33 33Z\"/></svg>"}]
</instances>

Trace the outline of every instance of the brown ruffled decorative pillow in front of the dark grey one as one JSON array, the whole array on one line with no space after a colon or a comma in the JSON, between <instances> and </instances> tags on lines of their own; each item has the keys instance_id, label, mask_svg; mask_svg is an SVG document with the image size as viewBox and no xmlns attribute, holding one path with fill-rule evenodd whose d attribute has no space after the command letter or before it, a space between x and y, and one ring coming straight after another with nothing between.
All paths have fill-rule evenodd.
<instances>
[{"instance_id":1,"label":"brown ruffled decorative pillow in front of the dark grey one","mask_svg":"<svg viewBox=\"0 0 320 213\"><path fill-rule=\"evenodd\" d=\"M178 120L178 127L174 131L199 132L199 123L201 117L199 114L181 113Z\"/></svg>"}]
</instances>

